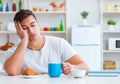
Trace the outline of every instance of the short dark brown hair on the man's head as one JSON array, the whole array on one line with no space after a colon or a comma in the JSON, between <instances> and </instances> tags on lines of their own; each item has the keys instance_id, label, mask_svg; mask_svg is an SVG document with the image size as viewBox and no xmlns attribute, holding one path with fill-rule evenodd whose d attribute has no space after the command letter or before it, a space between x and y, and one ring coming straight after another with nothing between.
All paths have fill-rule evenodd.
<instances>
[{"instance_id":1,"label":"short dark brown hair on the man's head","mask_svg":"<svg viewBox=\"0 0 120 84\"><path fill-rule=\"evenodd\" d=\"M28 9L22 9L15 14L14 21L21 22L23 19L30 15L32 15L35 18L35 20L37 20L35 14L32 11Z\"/></svg>"}]
</instances>

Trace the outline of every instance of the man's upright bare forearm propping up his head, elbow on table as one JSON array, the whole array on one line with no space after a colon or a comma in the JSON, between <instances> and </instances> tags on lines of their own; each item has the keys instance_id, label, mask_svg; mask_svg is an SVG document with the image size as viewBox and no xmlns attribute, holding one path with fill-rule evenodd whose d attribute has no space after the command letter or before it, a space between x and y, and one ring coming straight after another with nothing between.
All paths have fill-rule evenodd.
<instances>
[{"instance_id":1,"label":"man's upright bare forearm propping up his head, elbow on table","mask_svg":"<svg viewBox=\"0 0 120 84\"><path fill-rule=\"evenodd\" d=\"M16 51L6 60L4 68L9 75L17 75L23 64L27 40L23 39Z\"/></svg>"}]
</instances>

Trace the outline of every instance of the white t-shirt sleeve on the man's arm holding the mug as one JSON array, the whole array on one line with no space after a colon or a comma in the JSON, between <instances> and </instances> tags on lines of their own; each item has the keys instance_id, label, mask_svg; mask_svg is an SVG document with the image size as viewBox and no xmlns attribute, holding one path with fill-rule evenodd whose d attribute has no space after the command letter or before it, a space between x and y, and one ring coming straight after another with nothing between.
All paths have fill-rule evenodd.
<instances>
[{"instance_id":1,"label":"white t-shirt sleeve on the man's arm holding the mug","mask_svg":"<svg viewBox=\"0 0 120 84\"><path fill-rule=\"evenodd\" d=\"M61 54L62 61L66 61L78 53L72 48L72 46L66 40L62 39Z\"/></svg>"}]
</instances>

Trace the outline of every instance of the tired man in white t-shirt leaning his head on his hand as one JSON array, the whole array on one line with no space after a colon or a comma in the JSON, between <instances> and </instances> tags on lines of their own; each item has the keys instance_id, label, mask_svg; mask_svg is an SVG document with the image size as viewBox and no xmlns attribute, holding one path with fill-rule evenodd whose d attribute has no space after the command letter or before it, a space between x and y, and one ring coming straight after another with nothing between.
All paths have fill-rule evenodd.
<instances>
[{"instance_id":1,"label":"tired man in white t-shirt leaning his head on his hand","mask_svg":"<svg viewBox=\"0 0 120 84\"><path fill-rule=\"evenodd\" d=\"M26 68L48 73L49 62L62 63L63 73L71 74L73 68L88 70L86 63L62 38L43 36L32 11L20 10L14 17L17 35L21 42L6 54L4 68L9 75L18 75Z\"/></svg>"}]
</instances>

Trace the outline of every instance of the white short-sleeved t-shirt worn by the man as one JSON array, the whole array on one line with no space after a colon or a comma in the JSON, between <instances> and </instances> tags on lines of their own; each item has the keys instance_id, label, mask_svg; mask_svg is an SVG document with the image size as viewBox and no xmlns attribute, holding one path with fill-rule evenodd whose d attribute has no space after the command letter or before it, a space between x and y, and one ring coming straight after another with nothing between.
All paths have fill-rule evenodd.
<instances>
[{"instance_id":1,"label":"white short-sleeved t-shirt worn by the man","mask_svg":"<svg viewBox=\"0 0 120 84\"><path fill-rule=\"evenodd\" d=\"M17 46L8 50L6 57L9 57ZM45 44L40 51L27 49L24 56L24 63L21 70L32 68L36 72L48 73L48 63L61 63L68 60L77 52L64 39L53 36L45 36Z\"/></svg>"}]
</instances>

